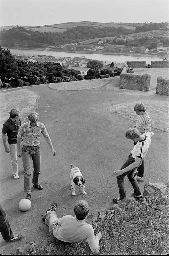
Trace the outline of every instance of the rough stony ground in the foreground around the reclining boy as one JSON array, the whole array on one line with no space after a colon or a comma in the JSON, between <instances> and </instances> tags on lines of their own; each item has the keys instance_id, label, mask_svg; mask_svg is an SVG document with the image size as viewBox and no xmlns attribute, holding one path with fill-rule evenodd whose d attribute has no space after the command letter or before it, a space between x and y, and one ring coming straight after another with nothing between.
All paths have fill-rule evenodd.
<instances>
[{"instance_id":1,"label":"rough stony ground in the foreground around the reclining boy","mask_svg":"<svg viewBox=\"0 0 169 256\"><path fill-rule=\"evenodd\" d=\"M151 194L149 194L151 193ZM138 202L125 198L111 209L93 213L88 221L102 233L98 255L167 255L168 186L145 184ZM87 242L65 243L49 238L18 248L18 255L93 255Z\"/></svg>"}]
</instances>

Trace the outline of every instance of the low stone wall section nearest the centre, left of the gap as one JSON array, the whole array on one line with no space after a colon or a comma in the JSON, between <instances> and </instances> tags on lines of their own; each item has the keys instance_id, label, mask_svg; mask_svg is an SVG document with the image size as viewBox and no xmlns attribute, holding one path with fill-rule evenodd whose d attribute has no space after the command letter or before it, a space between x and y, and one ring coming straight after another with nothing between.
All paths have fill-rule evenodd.
<instances>
[{"instance_id":1,"label":"low stone wall section nearest the centre, left of the gap","mask_svg":"<svg viewBox=\"0 0 169 256\"><path fill-rule=\"evenodd\" d=\"M151 75L142 76L133 74L120 74L120 88L129 90L149 91Z\"/></svg>"}]
</instances>

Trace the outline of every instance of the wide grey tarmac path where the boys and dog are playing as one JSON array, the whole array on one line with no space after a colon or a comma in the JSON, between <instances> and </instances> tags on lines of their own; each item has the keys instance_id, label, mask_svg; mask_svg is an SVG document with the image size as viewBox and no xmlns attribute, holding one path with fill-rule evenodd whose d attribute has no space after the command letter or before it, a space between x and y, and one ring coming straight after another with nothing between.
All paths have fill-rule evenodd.
<instances>
[{"instance_id":1,"label":"wide grey tarmac path where the boys and dog are playing","mask_svg":"<svg viewBox=\"0 0 169 256\"><path fill-rule=\"evenodd\" d=\"M62 217L73 214L74 204L79 199L89 202L90 213L110 208L112 198L119 196L116 178L112 171L119 169L130 154L134 144L125 138L128 125L133 122L110 113L112 104L144 101L168 100L167 96L155 92L122 90L111 84L101 88L82 91L54 91L46 85L27 87L40 95L36 112L44 123L57 154L52 156L46 140L41 136L41 174L39 183L43 190L32 188L32 206L27 212L18 208L24 198L24 173L19 159L20 179L11 175L9 156L1 141L1 204L7 212L14 231L23 234L21 242L6 243L0 237L1 253L15 253L17 247L29 242L48 239L48 227L41 215L57 201L57 214ZM16 89L20 90L20 89ZM27 120L26 120L27 121ZM168 134L152 129L155 136L145 157L144 182L139 183L143 192L147 182L168 181ZM86 194L76 189L71 195L70 163L79 167L86 178ZM125 179L127 195L133 192Z\"/></svg>"}]
</instances>

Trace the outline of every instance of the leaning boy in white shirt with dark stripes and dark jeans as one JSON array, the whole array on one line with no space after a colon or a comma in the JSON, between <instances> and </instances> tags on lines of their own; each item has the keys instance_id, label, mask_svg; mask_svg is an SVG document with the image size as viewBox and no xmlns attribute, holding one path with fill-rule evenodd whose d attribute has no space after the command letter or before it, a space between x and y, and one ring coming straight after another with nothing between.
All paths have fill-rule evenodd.
<instances>
[{"instance_id":1,"label":"leaning boy in white shirt with dark stripes and dark jeans","mask_svg":"<svg viewBox=\"0 0 169 256\"><path fill-rule=\"evenodd\" d=\"M127 161L123 164L121 169L113 171L113 176L117 177L117 184L120 193L120 197L113 198L113 202L115 204L117 204L119 200L123 200L126 197L126 191L124 187L124 178L126 175L134 189L133 196L138 201L140 198L142 198L137 179L134 177L133 174L135 172L135 169L142 164L143 158L147 154L148 148L151 145L151 137L153 135L153 132L145 132L141 134L139 130L133 127L130 127L126 131L126 138L137 142L137 144L134 146Z\"/></svg>"}]
</instances>

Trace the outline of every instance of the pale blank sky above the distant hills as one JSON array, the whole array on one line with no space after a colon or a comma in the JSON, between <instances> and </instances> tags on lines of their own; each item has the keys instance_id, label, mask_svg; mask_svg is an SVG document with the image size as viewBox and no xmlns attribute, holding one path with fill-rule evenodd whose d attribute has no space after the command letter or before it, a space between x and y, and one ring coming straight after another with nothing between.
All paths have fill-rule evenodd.
<instances>
[{"instance_id":1,"label":"pale blank sky above the distant hills","mask_svg":"<svg viewBox=\"0 0 169 256\"><path fill-rule=\"evenodd\" d=\"M0 0L0 26L169 22L168 0Z\"/></svg>"}]
</instances>

